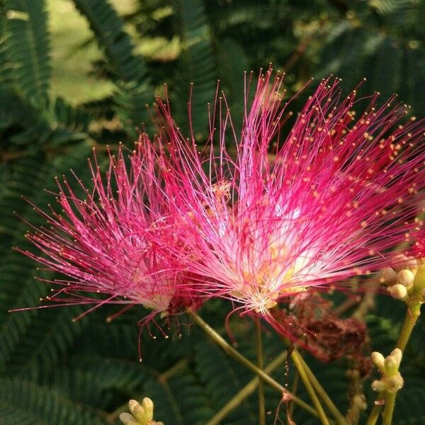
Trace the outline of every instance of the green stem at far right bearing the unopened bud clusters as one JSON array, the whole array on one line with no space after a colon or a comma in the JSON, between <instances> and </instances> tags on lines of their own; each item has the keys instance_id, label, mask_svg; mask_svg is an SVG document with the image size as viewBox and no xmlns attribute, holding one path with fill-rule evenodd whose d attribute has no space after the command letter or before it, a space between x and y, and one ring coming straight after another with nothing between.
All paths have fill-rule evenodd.
<instances>
[{"instance_id":1,"label":"green stem at far right bearing the unopened bud clusters","mask_svg":"<svg viewBox=\"0 0 425 425\"><path fill-rule=\"evenodd\" d=\"M414 305L412 307L412 310L410 308L407 309L406 317L404 317L404 322L399 334L399 339L397 341L396 348L399 348L400 350L404 351L407 346L407 342L409 341L410 335L412 334L414 324L416 323L420 314L420 305ZM392 412L394 412L395 406L395 395L392 396L390 393L380 392L377 397L378 404L377 402L375 402L375 405L373 406L373 409L371 410L370 415L368 417L368 421L366 421L366 425L375 425L376 421L378 421L380 410L383 404L380 401L383 399L385 399L385 411L387 412L387 415L390 415L391 420Z\"/></svg>"}]
</instances>

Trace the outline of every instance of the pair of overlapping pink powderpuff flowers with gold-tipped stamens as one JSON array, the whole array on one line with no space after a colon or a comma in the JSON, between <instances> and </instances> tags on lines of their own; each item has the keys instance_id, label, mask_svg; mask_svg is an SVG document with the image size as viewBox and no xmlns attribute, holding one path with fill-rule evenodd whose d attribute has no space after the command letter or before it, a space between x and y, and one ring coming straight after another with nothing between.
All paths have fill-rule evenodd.
<instances>
[{"instance_id":1,"label":"pair of overlapping pink powderpuff flowers with gold-tipped stamens","mask_svg":"<svg viewBox=\"0 0 425 425\"><path fill-rule=\"evenodd\" d=\"M60 185L64 214L41 212L50 229L28 235L45 256L26 253L69 277L55 280L63 287L50 300L142 304L157 314L224 297L290 336L280 302L342 289L423 234L423 120L403 124L407 108L395 98L380 106L378 94L344 97L330 78L294 117L282 77L261 74L252 101L250 81L240 132L217 91L199 150L159 101L158 135L141 135L129 166L123 148L104 181L91 165L84 199Z\"/></svg>"}]
</instances>

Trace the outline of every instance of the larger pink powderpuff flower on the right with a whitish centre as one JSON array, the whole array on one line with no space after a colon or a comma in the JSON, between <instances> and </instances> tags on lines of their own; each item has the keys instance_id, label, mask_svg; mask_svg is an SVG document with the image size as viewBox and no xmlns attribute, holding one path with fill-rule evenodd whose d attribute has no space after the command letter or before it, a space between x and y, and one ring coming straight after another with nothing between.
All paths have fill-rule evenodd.
<instances>
[{"instance_id":1,"label":"larger pink powderpuff flower on the right with a whitish centre","mask_svg":"<svg viewBox=\"0 0 425 425\"><path fill-rule=\"evenodd\" d=\"M400 239L423 233L415 217L424 120L402 124L407 108L393 105L395 96L382 106L378 94L343 97L339 79L329 78L283 137L290 113L282 77L272 76L259 77L249 108L245 100L239 137L217 91L209 147L198 151L192 131L183 137L167 102L159 103L159 140L169 152L170 208L185 227L180 258L198 276L198 293L232 300L234 311L261 314L290 336L272 308L280 300L342 289L385 266Z\"/></svg>"}]
</instances>

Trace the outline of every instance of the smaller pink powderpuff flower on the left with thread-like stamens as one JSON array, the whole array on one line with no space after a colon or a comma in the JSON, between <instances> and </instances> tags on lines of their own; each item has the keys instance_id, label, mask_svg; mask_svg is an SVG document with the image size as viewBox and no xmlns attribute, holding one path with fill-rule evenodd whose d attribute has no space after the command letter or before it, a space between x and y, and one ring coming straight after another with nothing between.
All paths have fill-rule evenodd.
<instances>
[{"instance_id":1,"label":"smaller pink powderpuff flower on the left with thread-like stamens","mask_svg":"<svg viewBox=\"0 0 425 425\"><path fill-rule=\"evenodd\" d=\"M94 163L89 160L91 189L77 179L84 200L67 180L57 182L62 214L35 208L48 227L26 235L44 255L23 253L65 276L50 281L60 287L45 300L94 304L87 312L106 303L123 304L125 309L143 305L152 309L145 323L157 313L191 304L188 278L161 248L179 240L179 227L167 215L156 154L147 136L140 136L130 166L121 146L116 157L109 157L104 179L96 155Z\"/></svg>"}]
</instances>

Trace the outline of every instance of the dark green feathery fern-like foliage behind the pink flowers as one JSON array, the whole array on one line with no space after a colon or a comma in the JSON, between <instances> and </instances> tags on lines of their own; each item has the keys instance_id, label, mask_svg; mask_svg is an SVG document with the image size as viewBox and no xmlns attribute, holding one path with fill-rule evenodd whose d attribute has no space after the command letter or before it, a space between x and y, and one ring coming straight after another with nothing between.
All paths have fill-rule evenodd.
<instances>
[{"instance_id":1,"label":"dark green feathery fern-like foliage behind the pink flowers","mask_svg":"<svg viewBox=\"0 0 425 425\"><path fill-rule=\"evenodd\" d=\"M55 176L69 176L72 169L89 181L86 157L91 147L98 148L100 158L106 144L123 141L130 147L137 137L135 129L149 122L145 103L152 103L154 93L162 94L164 82L174 116L187 137L191 137L187 111L193 82L191 116L200 143L208 135L207 103L215 99L217 79L238 128L244 71L253 69L256 74L269 62L287 72L289 94L312 75L334 72L344 79L346 89L368 77L365 93L378 90L390 96L396 91L421 115L424 3L140 0L124 15L118 13L116 2L108 0L73 0L72 4L89 23L103 52L103 59L92 64L91 77L115 87L111 96L77 106L72 98L50 94L55 84L51 46L56 40L48 30L46 2L0 0L0 423L117 424L128 399L149 396L157 420L166 425L205 424L252 375L195 327L183 324L181 338L171 327L169 339L159 331L152 339L145 331L143 362L138 363L137 322L144 317L142 308L111 323L106 317L117 311L114 307L77 322L72 319L84 307L8 313L40 305L40 297L49 292L49 285L33 276L57 277L38 271L33 261L13 250L15 246L33 249L23 236L27 222L45 225L26 199L40 208L47 203L55 207L55 196L49 193L57 191ZM86 49L93 40L78 48ZM148 49L149 43L160 47ZM293 103L295 110L308 90ZM228 310L225 302L217 301L205 305L202 314L226 336L223 323ZM401 303L378 298L367 319L370 349L391 351L403 314ZM252 325L237 323L239 349L254 361ZM397 399L395 424L424 422L424 335L420 320L405 355L406 383ZM265 331L264 339L267 360L283 350L273 332ZM322 367L309 362L336 404L346 409L348 365L341 361ZM290 363L276 372L283 384L291 385L293 377ZM366 389L369 383L365 382ZM367 392L370 403L374 395ZM297 394L308 400L302 387ZM266 395L272 412L267 423L272 424L280 396L268 387ZM283 404L278 413L282 420L285 409ZM407 419L412 409L417 415ZM299 424L317 423L299 408L293 417ZM223 423L257 424L256 395L244 400Z\"/></svg>"}]
</instances>

